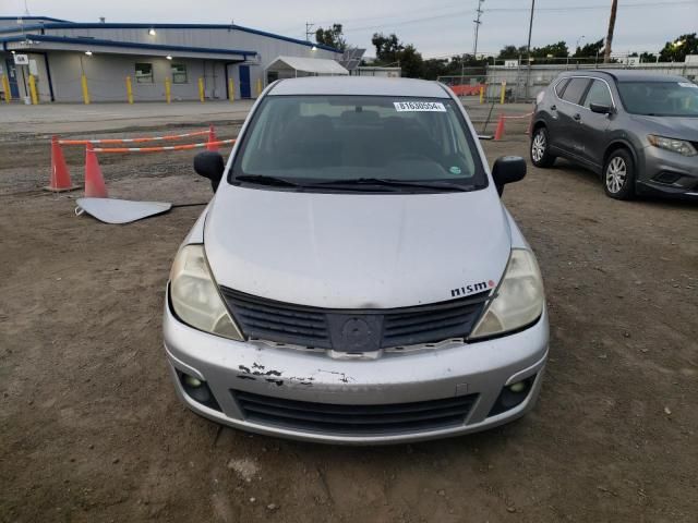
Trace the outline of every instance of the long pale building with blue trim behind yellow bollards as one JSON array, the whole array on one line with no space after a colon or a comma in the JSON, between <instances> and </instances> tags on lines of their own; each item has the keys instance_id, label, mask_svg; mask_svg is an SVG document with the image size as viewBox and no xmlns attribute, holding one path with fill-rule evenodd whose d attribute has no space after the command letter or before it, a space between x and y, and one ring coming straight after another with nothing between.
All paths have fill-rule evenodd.
<instances>
[{"instance_id":1,"label":"long pale building with blue trim behind yellow bollards","mask_svg":"<svg viewBox=\"0 0 698 523\"><path fill-rule=\"evenodd\" d=\"M15 63L15 56L20 62ZM278 57L339 60L341 51L226 24L76 23L0 17L0 92L39 102L255 98ZM130 86L130 87L129 87ZM231 93L229 90L231 89Z\"/></svg>"}]
</instances>

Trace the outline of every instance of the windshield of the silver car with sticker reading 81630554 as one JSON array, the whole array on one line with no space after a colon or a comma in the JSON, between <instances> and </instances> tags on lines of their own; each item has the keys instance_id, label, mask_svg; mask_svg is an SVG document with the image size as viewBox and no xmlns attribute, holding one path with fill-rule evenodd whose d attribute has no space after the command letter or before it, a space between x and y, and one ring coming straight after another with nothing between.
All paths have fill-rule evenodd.
<instances>
[{"instance_id":1,"label":"windshield of the silver car with sticker reading 81630554","mask_svg":"<svg viewBox=\"0 0 698 523\"><path fill-rule=\"evenodd\" d=\"M384 96L266 97L229 174L230 183L254 179L380 192L486 186L453 100Z\"/></svg>"}]
</instances>

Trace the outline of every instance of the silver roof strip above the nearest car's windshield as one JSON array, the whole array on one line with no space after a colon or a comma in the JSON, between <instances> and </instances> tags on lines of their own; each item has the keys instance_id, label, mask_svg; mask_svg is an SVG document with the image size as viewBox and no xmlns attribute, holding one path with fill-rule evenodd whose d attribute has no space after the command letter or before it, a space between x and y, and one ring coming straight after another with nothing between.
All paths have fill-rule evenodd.
<instances>
[{"instance_id":1,"label":"silver roof strip above the nearest car's windshield","mask_svg":"<svg viewBox=\"0 0 698 523\"><path fill-rule=\"evenodd\" d=\"M268 96L281 95L363 95L449 98L437 82L376 76L305 76L280 80Z\"/></svg>"}]
</instances>

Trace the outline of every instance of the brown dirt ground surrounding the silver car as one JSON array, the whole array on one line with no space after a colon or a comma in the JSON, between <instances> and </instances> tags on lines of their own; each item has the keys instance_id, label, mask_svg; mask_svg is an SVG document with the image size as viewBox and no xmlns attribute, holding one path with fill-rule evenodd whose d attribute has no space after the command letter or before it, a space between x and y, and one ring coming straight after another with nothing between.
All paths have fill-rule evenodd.
<instances>
[{"instance_id":1,"label":"brown dirt ground surrounding the silver car","mask_svg":"<svg viewBox=\"0 0 698 523\"><path fill-rule=\"evenodd\" d=\"M485 142L490 160L526 155L521 131ZM100 160L112 196L205 203L192 156ZM0 521L697 521L698 205L615 202L566 162L530 168L504 199L550 305L538 406L472 436L349 448L182 406L160 312L202 207L103 224L73 214L79 192L37 190L48 165L46 136L0 136Z\"/></svg>"}]
</instances>

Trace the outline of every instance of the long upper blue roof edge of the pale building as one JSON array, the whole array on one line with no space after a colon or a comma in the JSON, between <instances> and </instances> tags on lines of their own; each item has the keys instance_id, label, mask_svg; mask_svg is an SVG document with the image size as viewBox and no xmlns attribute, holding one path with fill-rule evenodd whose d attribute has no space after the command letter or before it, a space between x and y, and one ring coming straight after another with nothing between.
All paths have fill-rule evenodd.
<instances>
[{"instance_id":1,"label":"long upper blue roof edge of the pale building","mask_svg":"<svg viewBox=\"0 0 698 523\"><path fill-rule=\"evenodd\" d=\"M8 16L8 20L12 20L12 16ZM36 16L38 20L51 20L45 16ZM25 20L29 20L29 17L25 17ZM300 40L298 38L290 38L288 36L276 35L274 33L267 33L265 31L253 29L251 27L243 27L241 25L233 24L146 24L146 23L127 23L127 24L112 24L112 23L101 23L101 22L50 22L47 24L35 24L35 25L25 25L24 31L35 31L35 29L234 29L243 33L250 33L253 35L266 36L267 38L275 38L277 40L290 41L292 44L298 44L300 46L308 47L317 47L318 49L324 49L326 51L333 52L342 52L339 49L335 49L334 47L325 46L323 44L314 44L312 41ZM16 33L20 31L19 28L4 28L0 29L0 34L2 33Z\"/></svg>"}]
</instances>

